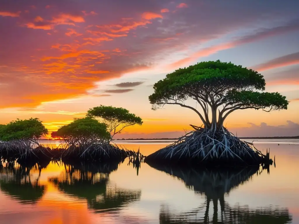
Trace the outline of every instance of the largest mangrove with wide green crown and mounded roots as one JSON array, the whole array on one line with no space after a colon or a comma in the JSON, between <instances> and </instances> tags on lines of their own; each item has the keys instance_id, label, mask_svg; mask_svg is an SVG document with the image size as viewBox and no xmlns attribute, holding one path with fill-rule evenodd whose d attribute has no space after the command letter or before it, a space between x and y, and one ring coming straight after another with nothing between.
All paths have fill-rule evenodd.
<instances>
[{"instance_id":1,"label":"largest mangrove with wide green crown and mounded roots","mask_svg":"<svg viewBox=\"0 0 299 224\"><path fill-rule=\"evenodd\" d=\"M149 96L152 109L180 105L196 112L202 125L190 125L194 131L150 154L144 162L229 167L272 164L268 151L262 154L223 125L236 110L287 109L286 97L264 92L265 86L265 79L257 71L219 60L200 62L167 74L155 83L154 93ZM187 100L194 100L200 110L186 105Z\"/></svg>"}]
</instances>

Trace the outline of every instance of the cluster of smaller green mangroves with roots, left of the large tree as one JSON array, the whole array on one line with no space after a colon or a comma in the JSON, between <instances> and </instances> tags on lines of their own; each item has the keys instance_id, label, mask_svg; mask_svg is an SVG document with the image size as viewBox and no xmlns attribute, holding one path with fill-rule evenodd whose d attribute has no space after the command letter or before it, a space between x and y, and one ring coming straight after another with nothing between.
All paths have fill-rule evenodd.
<instances>
[{"instance_id":1,"label":"cluster of smaller green mangroves with roots, left of the large tree","mask_svg":"<svg viewBox=\"0 0 299 224\"><path fill-rule=\"evenodd\" d=\"M98 119L96 119L98 118ZM142 119L124 108L95 107L87 116L74 119L51 133L53 139L63 140L57 148L39 143L48 130L38 118L17 119L0 125L0 159L19 164L48 164L51 160L67 163L120 162L131 157L133 163L143 159L138 152L121 148L112 142L115 134L130 125L141 125Z\"/></svg>"}]
</instances>

